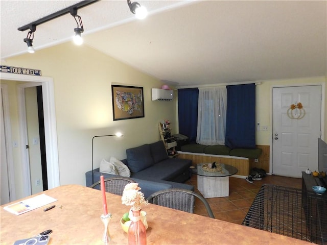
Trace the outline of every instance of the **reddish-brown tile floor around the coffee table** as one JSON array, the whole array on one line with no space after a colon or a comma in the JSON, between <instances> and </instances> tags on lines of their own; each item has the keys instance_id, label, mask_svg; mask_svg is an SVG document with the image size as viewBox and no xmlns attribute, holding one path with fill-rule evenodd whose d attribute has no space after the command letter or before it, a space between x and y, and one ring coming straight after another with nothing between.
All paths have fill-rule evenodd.
<instances>
[{"instance_id":1,"label":"reddish-brown tile floor around the coffee table","mask_svg":"<svg viewBox=\"0 0 327 245\"><path fill-rule=\"evenodd\" d=\"M195 191L199 192L196 188L196 175L193 175L188 182L189 184L195 186ZM301 178L268 175L262 180L248 183L245 179L229 177L229 197L208 198L206 200L211 206L211 209L213 210L213 213L217 219L242 224L256 193L258 193L261 185L264 183L299 189L301 188ZM194 213L208 216L204 205L199 200L196 201Z\"/></svg>"}]
</instances>

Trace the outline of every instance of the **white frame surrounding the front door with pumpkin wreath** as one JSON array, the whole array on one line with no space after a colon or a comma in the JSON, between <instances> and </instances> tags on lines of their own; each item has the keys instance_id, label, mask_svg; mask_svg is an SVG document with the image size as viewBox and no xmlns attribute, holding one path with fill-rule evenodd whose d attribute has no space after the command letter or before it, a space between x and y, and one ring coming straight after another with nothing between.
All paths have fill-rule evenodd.
<instances>
[{"instance_id":1,"label":"white frame surrounding the front door with pumpkin wreath","mask_svg":"<svg viewBox=\"0 0 327 245\"><path fill-rule=\"evenodd\" d=\"M271 101L270 101L270 125L273 127L273 89L274 88L284 88L284 87L303 87L303 86L316 86L320 85L321 86L321 111L320 111L320 132L321 132L321 139L324 140L324 121L325 121L325 83L323 82L318 82L318 83L303 83L303 84L288 84L288 85L272 85L270 87L270 96L271 96ZM271 131L271 134L273 132ZM269 142L269 175L272 175L272 141L273 137L271 135L270 137L270 142Z\"/></svg>"}]
</instances>

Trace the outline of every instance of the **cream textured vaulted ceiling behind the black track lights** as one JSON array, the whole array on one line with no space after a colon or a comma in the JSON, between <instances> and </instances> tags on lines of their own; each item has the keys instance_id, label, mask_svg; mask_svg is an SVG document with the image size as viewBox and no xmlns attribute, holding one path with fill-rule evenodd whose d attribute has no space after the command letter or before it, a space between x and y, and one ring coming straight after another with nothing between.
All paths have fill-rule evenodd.
<instances>
[{"instance_id":1,"label":"cream textured vaulted ceiling behind the black track lights","mask_svg":"<svg viewBox=\"0 0 327 245\"><path fill-rule=\"evenodd\" d=\"M1 59L26 53L28 31L17 28L77 2L0 1ZM327 1L138 3L144 20L126 1L79 9L83 45L176 86L327 75ZM71 41L74 28L70 14L41 24L36 52Z\"/></svg>"}]
</instances>

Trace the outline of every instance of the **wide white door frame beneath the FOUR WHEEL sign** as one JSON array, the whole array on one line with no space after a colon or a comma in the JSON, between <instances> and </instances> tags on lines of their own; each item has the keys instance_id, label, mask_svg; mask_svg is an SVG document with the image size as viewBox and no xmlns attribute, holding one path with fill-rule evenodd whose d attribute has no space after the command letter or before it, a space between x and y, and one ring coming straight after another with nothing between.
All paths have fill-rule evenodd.
<instances>
[{"instance_id":1,"label":"wide white door frame beneath the FOUR WHEEL sign","mask_svg":"<svg viewBox=\"0 0 327 245\"><path fill-rule=\"evenodd\" d=\"M57 124L53 78L20 74L0 73L0 79L10 81L41 82L43 95L46 167L48 169L48 188L60 186Z\"/></svg>"}]
</instances>

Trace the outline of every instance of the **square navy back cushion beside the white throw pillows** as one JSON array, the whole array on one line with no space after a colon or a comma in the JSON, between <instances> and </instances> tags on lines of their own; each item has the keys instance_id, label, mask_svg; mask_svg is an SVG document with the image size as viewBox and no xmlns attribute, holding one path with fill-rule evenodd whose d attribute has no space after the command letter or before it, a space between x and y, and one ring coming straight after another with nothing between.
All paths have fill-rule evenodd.
<instances>
[{"instance_id":1,"label":"square navy back cushion beside the white throw pillows","mask_svg":"<svg viewBox=\"0 0 327 245\"><path fill-rule=\"evenodd\" d=\"M126 150L127 163L132 173L137 173L154 164L149 144Z\"/></svg>"}]
</instances>

